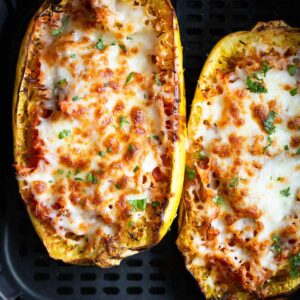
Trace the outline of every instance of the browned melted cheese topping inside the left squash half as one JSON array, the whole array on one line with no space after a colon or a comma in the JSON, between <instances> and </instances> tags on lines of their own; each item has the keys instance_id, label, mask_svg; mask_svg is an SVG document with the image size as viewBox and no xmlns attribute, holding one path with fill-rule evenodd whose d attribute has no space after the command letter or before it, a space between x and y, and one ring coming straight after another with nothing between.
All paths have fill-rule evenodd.
<instances>
[{"instance_id":1,"label":"browned melted cheese topping inside the left squash half","mask_svg":"<svg viewBox=\"0 0 300 300\"><path fill-rule=\"evenodd\" d=\"M69 1L65 10L36 21L36 164L19 179L62 238L138 241L148 223L160 226L168 199L175 85L162 65L173 54L144 6Z\"/></svg>"}]
</instances>

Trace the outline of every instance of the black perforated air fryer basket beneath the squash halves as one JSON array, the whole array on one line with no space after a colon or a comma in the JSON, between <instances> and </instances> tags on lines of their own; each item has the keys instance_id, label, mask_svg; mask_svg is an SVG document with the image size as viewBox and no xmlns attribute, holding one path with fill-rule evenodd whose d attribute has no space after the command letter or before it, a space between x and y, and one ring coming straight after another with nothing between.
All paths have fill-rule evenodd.
<instances>
[{"instance_id":1,"label":"black perforated air fryer basket beneath the squash halves","mask_svg":"<svg viewBox=\"0 0 300 300\"><path fill-rule=\"evenodd\" d=\"M3 299L204 299L174 244L176 224L153 249L100 269L50 259L25 213L13 165L11 103L17 55L38 0L0 0L0 298ZM299 0L174 1L179 18L188 110L199 72L213 45L257 21L283 19L300 26ZM300 299L300 293L290 299Z\"/></svg>"}]
</instances>

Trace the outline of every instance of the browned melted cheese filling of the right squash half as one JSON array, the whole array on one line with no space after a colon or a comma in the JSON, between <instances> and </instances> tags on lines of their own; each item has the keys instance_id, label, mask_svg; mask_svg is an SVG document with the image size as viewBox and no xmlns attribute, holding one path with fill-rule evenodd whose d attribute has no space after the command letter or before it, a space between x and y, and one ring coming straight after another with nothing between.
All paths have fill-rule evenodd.
<instances>
[{"instance_id":1,"label":"browned melted cheese filling of the right squash half","mask_svg":"<svg viewBox=\"0 0 300 300\"><path fill-rule=\"evenodd\" d=\"M257 291L300 249L300 51L245 48L189 121L177 243L208 297Z\"/></svg>"}]
</instances>

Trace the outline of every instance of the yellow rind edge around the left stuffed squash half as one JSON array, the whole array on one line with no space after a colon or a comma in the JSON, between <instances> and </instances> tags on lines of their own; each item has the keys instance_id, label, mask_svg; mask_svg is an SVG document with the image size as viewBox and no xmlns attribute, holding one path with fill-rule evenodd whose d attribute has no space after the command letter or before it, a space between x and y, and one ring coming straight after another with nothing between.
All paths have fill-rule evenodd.
<instances>
[{"instance_id":1,"label":"yellow rind edge around the left stuffed squash half","mask_svg":"<svg viewBox=\"0 0 300 300\"><path fill-rule=\"evenodd\" d=\"M63 7L68 0L63 0L59 3ZM132 0L128 1L132 2ZM32 224L43 241L49 255L54 259L62 260L66 263L91 265L96 264L100 267L111 267L119 265L121 260L130 255L136 254L143 249L148 249L156 245L164 237L169 227L171 226L174 218L176 217L177 208L179 205L183 177L184 177L184 162L185 162L185 140L186 140L186 126L185 126L185 93L184 93L184 79L183 79L183 68L182 68L182 47L180 43L179 27L177 23L176 14L169 0L158 1L158 0L147 0L142 1L147 3L149 7L156 11L158 15L163 18L169 17L169 25L173 30L174 37L174 69L177 71L178 77L175 78L178 84L178 100L179 102L179 128L178 128L178 140L174 145L173 153L173 168L172 168L172 180L170 187L170 197L162 216L160 230L157 235L155 242L147 240L147 237L142 239L138 244L135 244L131 248L120 247L114 248L108 246L105 242L100 242L94 249L89 251L82 251L78 246L72 242L63 240L59 237L53 228L45 222L41 222L27 206L27 211L32 221ZM32 18L27 32L23 39L19 60L16 69L16 80L14 88L13 98L13 132L14 132L14 157L17 165L21 165L24 161L23 152L26 147L26 107L28 104L26 96L26 81L24 80L28 49L30 47L31 35L34 31L35 19L41 13L46 10L52 9L52 1L46 0L39 10ZM167 21L168 22L168 21ZM20 191L24 188L24 181L19 181Z\"/></svg>"}]
</instances>

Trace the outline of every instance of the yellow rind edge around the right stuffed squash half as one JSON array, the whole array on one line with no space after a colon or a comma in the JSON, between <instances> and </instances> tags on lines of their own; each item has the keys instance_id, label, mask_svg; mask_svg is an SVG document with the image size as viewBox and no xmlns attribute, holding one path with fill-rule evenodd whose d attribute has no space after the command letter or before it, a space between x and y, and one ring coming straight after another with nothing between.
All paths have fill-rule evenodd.
<instances>
[{"instance_id":1,"label":"yellow rind edge around the right stuffed squash half","mask_svg":"<svg viewBox=\"0 0 300 300\"><path fill-rule=\"evenodd\" d=\"M242 41L242 43L241 43ZM291 28L283 21L259 22L251 31L241 31L229 34L221 39L210 52L203 69L201 71L197 89L194 95L191 115L188 122L188 138L191 138L193 128L196 128L201 119L201 108L197 103L205 99L206 88L210 86L217 69L228 70L230 60L233 54L242 54L246 44L253 42L267 42L274 46L296 46L300 47L300 29ZM187 158L188 160L188 158ZM188 203L182 199L179 208L179 238L177 246L184 254L183 232L189 230ZM192 266L187 257L185 257L187 269L195 277L197 282L205 282L208 270L205 267ZM264 286L257 292L257 295L249 294L241 288L237 288L231 293L222 293L216 289L212 289L208 284L203 283L200 288L206 295L207 299L239 299L250 300L260 298L274 297L293 292L300 285L300 277L292 278L289 273L289 266L283 266L280 276L273 277L267 281ZM220 289L221 290L221 289Z\"/></svg>"}]
</instances>

